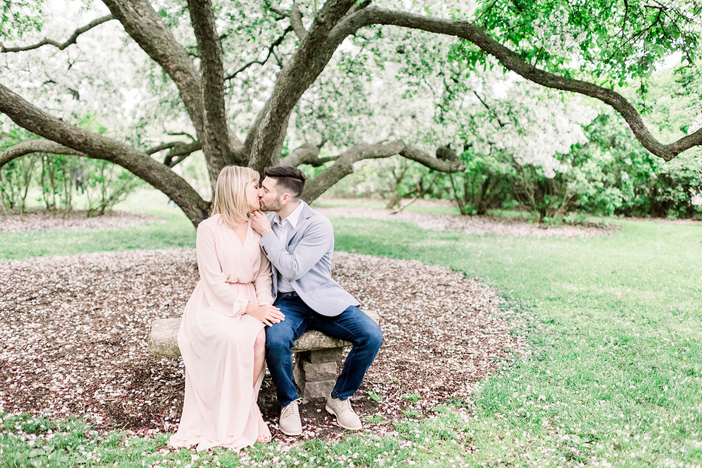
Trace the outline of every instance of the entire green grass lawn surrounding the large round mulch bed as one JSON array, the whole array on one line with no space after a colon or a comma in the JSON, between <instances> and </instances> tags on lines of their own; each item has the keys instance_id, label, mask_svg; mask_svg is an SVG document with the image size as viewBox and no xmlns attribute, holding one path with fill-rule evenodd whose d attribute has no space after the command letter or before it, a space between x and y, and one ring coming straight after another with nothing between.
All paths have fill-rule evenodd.
<instances>
[{"instance_id":1,"label":"entire green grass lawn surrounding the large round mulch bed","mask_svg":"<svg viewBox=\"0 0 702 468\"><path fill-rule=\"evenodd\" d=\"M192 227L171 215L160 225L168 237L152 245L192 245ZM373 467L406 466L408 459L446 467L458 467L461 460L489 467L702 464L702 225L616 221L625 230L610 237L564 240L435 232L369 219L332 221L338 250L437 263L501 291L505 307L524 315L518 331L527 333L524 355L483 380L470 401L451 401L437 418L402 422L395 426L397 436L384 439L350 435L340 443L308 441L286 453L281 446L257 444L241 460L218 451L193 462L187 450L158 453L163 435L128 439L125 446L121 432L85 439L80 422L66 427L6 415L0 467L117 462L195 468L207 466L204 460L227 467L270 463L273 457L279 457L279 466L300 467L331 467L340 457L349 466L352 461ZM152 228L115 230L112 242L101 238L106 231L86 232L80 249L156 248L139 240ZM0 234L5 258L8 239ZM26 256L30 246L25 247ZM77 252L59 251L46 254ZM461 406L471 418L456 411ZM37 432L55 428L51 443L40 444L46 445L42 453L9 435L27 425Z\"/></svg>"}]
</instances>

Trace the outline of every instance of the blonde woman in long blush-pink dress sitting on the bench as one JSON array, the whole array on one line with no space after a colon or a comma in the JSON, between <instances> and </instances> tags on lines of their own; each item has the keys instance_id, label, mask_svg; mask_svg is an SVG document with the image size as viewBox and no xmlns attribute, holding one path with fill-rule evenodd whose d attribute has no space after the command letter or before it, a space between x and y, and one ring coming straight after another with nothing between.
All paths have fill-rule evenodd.
<instances>
[{"instance_id":1,"label":"blonde woman in long blush-pink dress sitting on the bench","mask_svg":"<svg viewBox=\"0 0 702 468\"><path fill-rule=\"evenodd\" d=\"M265 326L284 316L273 307L270 263L249 215L259 209L258 172L220 172L213 215L197 227L200 281L178 332L185 362L185 403L174 447L239 450L270 441L258 390L265 369Z\"/></svg>"}]
</instances>

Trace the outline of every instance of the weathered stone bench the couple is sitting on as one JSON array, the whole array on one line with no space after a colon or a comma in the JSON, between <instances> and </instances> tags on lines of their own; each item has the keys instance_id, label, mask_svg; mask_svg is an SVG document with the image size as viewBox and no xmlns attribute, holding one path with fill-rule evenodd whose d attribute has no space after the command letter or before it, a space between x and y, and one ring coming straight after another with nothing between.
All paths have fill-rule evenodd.
<instances>
[{"instance_id":1,"label":"weathered stone bench the couple is sitting on","mask_svg":"<svg viewBox=\"0 0 702 468\"><path fill-rule=\"evenodd\" d=\"M366 314L378 323L378 314ZM180 317L156 319L149 333L149 352L154 356L180 356L178 349ZM336 362L345 347L351 343L326 336L321 331L309 330L295 342L293 379L305 399L326 398L336 382Z\"/></svg>"}]
</instances>

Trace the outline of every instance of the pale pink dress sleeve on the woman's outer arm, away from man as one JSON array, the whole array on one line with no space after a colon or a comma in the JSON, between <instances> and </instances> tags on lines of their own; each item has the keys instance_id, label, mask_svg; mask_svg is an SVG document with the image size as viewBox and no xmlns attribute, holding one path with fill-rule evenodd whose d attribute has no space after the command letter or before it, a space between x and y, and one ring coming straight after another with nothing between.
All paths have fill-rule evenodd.
<instances>
[{"instance_id":1,"label":"pale pink dress sleeve on the woman's outer arm, away from man","mask_svg":"<svg viewBox=\"0 0 702 468\"><path fill-rule=\"evenodd\" d=\"M225 313L225 315L237 317L244 314L246 305L249 305L249 299L244 294L237 293L232 285L227 282L227 277L222 272L222 266L217 256L215 233L212 226L206 223L200 223L197 226L195 246L200 279L208 284L210 291L221 302L232 305L230 313Z\"/></svg>"}]
</instances>

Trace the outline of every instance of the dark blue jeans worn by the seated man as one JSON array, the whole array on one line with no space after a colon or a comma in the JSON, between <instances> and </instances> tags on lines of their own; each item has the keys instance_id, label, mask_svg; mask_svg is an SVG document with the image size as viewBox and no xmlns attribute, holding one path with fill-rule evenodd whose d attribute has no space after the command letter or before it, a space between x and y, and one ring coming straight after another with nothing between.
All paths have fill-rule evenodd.
<instances>
[{"instance_id":1,"label":"dark blue jeans worn by the seated man","mask_svg":"<svg viewBox=\"0 0 702 468\"><path fill-rule=\"evenodd\" d=\"M307 329L353 343L344 370L336 379L333 393L345 400L361 387L366 371L383 344L383 332L376 322L359 308L351 305L336 317L318 314L299 297L283 296L274 304L285 320L265 327L265 359L277 389L278 402L288 406L299 398L293 385L293 355L295 340Z\"/></svg>"}]
</instances>

